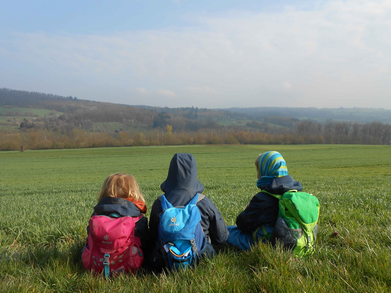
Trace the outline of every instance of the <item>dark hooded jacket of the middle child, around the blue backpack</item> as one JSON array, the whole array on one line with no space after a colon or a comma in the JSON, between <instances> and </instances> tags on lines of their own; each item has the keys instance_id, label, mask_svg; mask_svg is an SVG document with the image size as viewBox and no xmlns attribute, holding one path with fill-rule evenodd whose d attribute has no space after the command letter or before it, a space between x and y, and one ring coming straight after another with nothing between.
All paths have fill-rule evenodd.
<instances>
[{"instance_id":1,"label":"dark hooded jacket of the middle child, around the blue backpack","mask_svg":"<svg viewBox=\"0 0 391 293\"><path fill-rule=\"evenodd\" d=\"M174 206L185 206L195 196L204 190L197 180L197 164L192 154L175 154L170 163L167 180L160 186L166 199ZM220 245L228 239L225 221L213 202L205 197L197 203L201 214L201 227L206 239L212 244ZM150 217L150 234L157 241L159 214L162 212L160 201L152 205Z\"/></svg>"}]
</instances>

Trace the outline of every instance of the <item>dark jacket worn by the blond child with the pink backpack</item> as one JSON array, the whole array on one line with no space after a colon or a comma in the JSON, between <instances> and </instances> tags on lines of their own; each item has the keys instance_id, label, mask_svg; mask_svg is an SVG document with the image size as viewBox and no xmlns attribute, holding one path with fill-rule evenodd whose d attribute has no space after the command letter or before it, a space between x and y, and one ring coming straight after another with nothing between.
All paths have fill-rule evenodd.
<instances>
[{"instance_id":1,"label":"dark jacket worn by the blond child with the pink backpack","mask_svg":"<svg viewBox=\"0 0 391 293\"><path fill-rule=\"evenodd\" d=\"M94 207L94 212L91 217L94 215L104 215L109 216L111 213L120 215L121 217L130 216L130 217L139 217L141 216L141 211L136 207L135 204L129 200L117 197L108 197L105 196L101 201ZM87 235L89 233L89 226L87 226ZM136 227L134 230L134 236L139 237L141 241L141 249L144 253L149 251L149 230L148 230L148 219L147 217L142 217L136 222Z\"/></svg>"}]
</instances>

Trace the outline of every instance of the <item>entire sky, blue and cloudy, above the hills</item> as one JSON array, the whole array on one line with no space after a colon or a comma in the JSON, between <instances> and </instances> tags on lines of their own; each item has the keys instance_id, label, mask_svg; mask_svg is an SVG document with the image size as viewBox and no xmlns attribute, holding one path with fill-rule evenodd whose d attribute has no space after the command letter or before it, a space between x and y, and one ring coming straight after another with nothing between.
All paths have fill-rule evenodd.
<instances>
[{"instance_id":1,"label":"entire sky, blue and cloudy, above the hills","mask_svg":"<svg viewBox=\"0 0 391 293\"><path fill-rule=\"evenodd\" d=\"M391 109L391 1L2 1L0 87L128 105Z\"/></svg>"}]
</instances>

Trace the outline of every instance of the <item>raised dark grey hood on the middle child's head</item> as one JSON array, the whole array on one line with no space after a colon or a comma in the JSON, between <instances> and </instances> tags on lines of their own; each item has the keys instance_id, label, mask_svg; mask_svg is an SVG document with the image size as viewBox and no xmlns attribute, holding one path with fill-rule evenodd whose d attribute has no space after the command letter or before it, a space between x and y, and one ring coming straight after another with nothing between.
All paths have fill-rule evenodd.
<instances>
[{"instance_id":1,"label":"raised dark grey hood on the middle child's head","mask_svg":"<svg viewBox=\"0 0 391 293\"><path fill-rule=\"evenodd\" d=\"M166 199L175 206L186 205L204 191L197 179L197 163L192 154L177 153L170 163L167 179L160 185Z\"/></svg>"}]
</instances>

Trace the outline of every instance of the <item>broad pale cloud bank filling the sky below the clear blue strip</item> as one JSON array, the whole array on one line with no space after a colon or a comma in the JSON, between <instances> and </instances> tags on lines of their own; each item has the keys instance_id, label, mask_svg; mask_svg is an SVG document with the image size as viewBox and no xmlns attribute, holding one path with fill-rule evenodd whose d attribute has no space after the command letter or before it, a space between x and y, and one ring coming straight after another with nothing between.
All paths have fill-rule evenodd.
<instances>
[{"instance_id":1,"label":"broad pale cloud bank filling the sky below the clear blue strip","mask_svg":"<svg viewBox=\"0 0 391 293\"><path fill-rule=\"evenodd\" d=\"M0 39L0 86L101 100L135 88L132 103L144 104L147 82L150 105L391 108L391 2L320 3L184 28L11 33Z\"/></svg>"}]
</instances>

